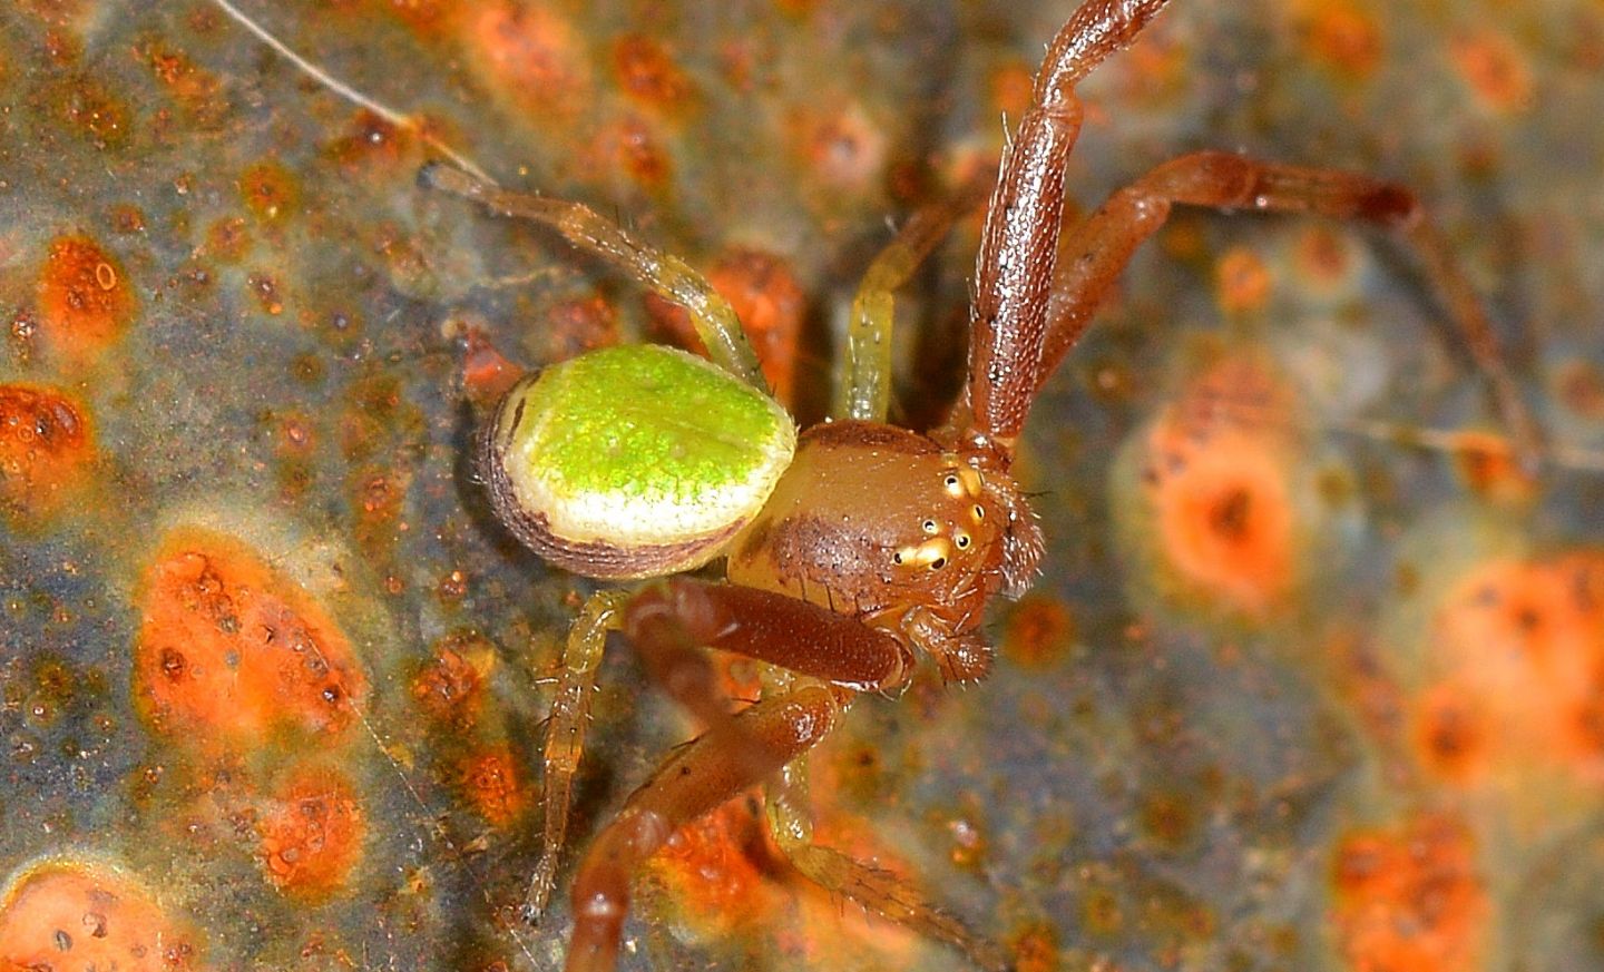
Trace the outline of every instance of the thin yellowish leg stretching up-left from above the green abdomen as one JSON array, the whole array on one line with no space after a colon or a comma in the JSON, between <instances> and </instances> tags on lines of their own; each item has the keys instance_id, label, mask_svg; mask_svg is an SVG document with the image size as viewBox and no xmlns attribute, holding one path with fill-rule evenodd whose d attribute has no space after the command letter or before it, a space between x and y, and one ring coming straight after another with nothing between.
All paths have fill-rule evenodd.
<instances>
[{"instance_id":1,"label":"thin yellowish leg stretching up-left from above the green abdomen","mask_svg":"<svg viewBox=\"0 0 1604 972\"><path fill-rule=\"evenodd\" d=\"M595 210L581 202L508 192L494 183L438 162L423 167L419 181L431 189L480 202L494 213L536 220L557 229L568 242L606 260L664 300L685 308L691 327L696 329L696 335L707 348L707 356L719 367L754 388L768 391L768 383L757 367L757 354L747 343L746 332L741 330L741 321L730 308L730 302L714 290L712 284L690 263L643 244L618 223L597 215Z\"/></svg>"}]
</instances>

